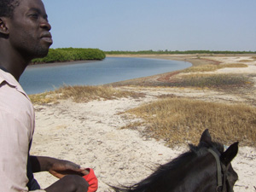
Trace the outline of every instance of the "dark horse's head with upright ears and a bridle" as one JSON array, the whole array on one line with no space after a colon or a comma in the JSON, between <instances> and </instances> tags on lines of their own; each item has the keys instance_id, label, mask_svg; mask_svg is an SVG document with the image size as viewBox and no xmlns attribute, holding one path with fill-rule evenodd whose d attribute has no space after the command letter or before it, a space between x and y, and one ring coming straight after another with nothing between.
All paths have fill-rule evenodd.
<instances>
[{"instance_id":1,"label":"dark horse's head with upright ears and a bridle","mask_svg":"<svg viewBox=\"0 0 256 192\"><path fill-rule=\"evenodd\" d=\"M237 173L231 166L231 161L235 158L238 152L238 142L233 143L224 151L223 145L213 143L212 137L208 130L201 135L201 140L198 147L207 147L207 151L212 154L217 165L217 186L216 191L232 192L233 187L238 179Z\"/></svg>"}]
</instances>

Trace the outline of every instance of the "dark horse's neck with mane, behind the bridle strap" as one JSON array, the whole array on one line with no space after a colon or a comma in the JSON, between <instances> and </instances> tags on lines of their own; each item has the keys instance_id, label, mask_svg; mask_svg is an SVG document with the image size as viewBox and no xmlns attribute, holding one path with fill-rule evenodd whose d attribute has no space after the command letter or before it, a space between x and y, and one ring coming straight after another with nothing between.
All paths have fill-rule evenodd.
<instances>
[{"instance_id":1,"label":"dark horse's neck with mane, behind the bridle strap","mask_svg":"<svg viewBox=\"0 0 256 192\"><path fill-rule=\"evenodd\" d=\"M124 191L216 192L216 170L216 161L211 154L187 153L160 166L131 190Z\"/></svg>"}]
</instances>

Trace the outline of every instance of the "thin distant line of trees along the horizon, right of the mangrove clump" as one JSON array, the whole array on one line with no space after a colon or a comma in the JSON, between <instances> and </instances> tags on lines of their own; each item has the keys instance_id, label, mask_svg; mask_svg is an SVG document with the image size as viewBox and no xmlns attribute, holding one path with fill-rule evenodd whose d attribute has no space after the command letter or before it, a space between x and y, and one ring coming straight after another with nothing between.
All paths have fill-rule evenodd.
<instances>
[{"instance_id":1,"label":"thin distant line of trees along the horizon, right of the mangrove clump","mask_svg":"<svg viewBox=\"0 0 256 192\"><path fill-rule=\"evenodd\" d=\"M255 54L256 51L230 51L230 50L139 50L139 51L122 51L122 50L111 50L105 51L108 55L122 55L122 54Z\"/></svg>"}]
</instances>

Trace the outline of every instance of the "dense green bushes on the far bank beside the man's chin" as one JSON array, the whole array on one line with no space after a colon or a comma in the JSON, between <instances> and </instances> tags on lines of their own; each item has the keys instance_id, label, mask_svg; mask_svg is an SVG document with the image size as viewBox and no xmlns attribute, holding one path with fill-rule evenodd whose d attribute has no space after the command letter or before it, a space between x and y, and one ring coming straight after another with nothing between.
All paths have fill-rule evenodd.
<instances>
[{"instance_id":1,"label":"dense green bushes on the far bank beside the man's chin","mask_svg":"<svg viewBox=\"0 0 256 192\"><path fill-rule=\"evenodd\" d=\"M44 58L32 60L32 64L65 62L65 61L84 61L84 60L103 60L106 55L101 49L84 48L61 48L49 49L49 53Z\"/></svg>"}]
</instances>

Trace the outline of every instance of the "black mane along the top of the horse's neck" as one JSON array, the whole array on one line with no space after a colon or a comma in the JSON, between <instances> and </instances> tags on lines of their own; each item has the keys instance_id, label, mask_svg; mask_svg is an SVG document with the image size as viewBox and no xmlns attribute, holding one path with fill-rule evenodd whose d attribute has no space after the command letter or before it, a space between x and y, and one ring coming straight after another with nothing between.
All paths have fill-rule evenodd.
<instances>
[{"instance_id":1,"label":"black mane along the top of the horse's neck","mask_svg":"<svg viewBox=\"0 0 256 192\"><path fill-rule=\"evenodd\" d=\"M195 158L199 156L207 154L207 148L214 148L218 150L219 153L224 152L224 147L220 143L200 143L198 146L189 144L189 151L180 154L177 158L166 163L165 165L159 166L154 173L143 179L141 182L132 184L130 187L113 187L113 189L115 191L122 192L144 192L146 191L145 189L147 189L149 183L157 183L157 181L160 181L160 179L166 177L166 175L171 175L173 172L177 172L177 169L179 169L179 167L188 166L188 162L195 160ZM173 179L175 179L175 174L172 175L174 175ZM147 192L148 191L150 191L150 189L147 189ZM155 191L155 189L152 189L152 191Z\"/></svg>"}]
</instances>

